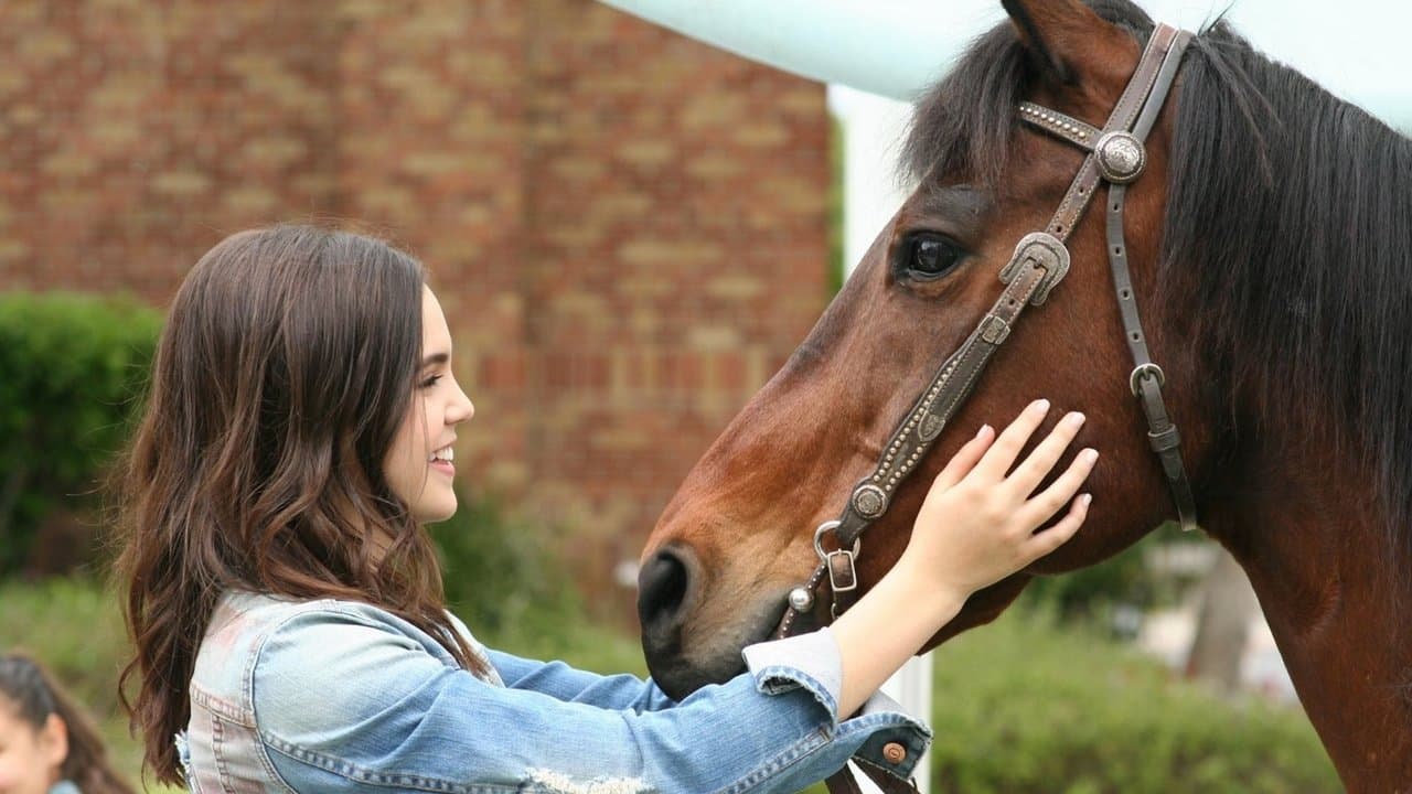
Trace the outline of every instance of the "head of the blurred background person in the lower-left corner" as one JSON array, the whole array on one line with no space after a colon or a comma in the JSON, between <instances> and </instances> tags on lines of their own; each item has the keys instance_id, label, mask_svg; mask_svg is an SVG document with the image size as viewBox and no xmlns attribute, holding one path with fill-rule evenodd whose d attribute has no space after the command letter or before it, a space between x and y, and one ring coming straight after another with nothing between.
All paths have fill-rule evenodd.
<instances>
[{"instance_id":1,"label":"head of the blurred background person in the lower-left corner","mask_svg":"<svg viewBox=\"0 0 1412 794\"><path fill-rule=\"evenodd\" d=\"M65 780L83 794L131 794L93 722L44 668L0 656L0 794L45 794Z\"/></svg>"}]
</instances>

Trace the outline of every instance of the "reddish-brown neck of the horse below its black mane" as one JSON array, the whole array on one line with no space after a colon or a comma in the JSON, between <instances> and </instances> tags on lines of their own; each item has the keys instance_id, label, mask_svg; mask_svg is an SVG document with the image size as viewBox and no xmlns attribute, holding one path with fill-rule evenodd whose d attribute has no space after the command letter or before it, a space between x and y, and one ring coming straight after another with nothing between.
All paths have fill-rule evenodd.
<instances>
[{"instance_id":1,"label":"reddish-brown neck of the horse below its black mane","mask_svg":"<svg viewBox=\"0 0 1412 794\"><path fill-rule=\"evenodd\" d=\"M1291 428L1299 435L1305 428ZM1372 480L1327 439L1244 451L1207 531L1250 575L1350 791L1412 786L1412 588Z\"/></svg>"}]
</instances>

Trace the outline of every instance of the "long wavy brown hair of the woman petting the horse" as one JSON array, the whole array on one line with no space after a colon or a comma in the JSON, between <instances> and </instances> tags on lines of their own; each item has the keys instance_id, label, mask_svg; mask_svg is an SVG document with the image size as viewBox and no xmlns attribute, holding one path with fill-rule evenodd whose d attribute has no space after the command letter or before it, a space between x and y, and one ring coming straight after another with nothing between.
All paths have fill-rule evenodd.
<instances>
[{"instance_id":1,"label":"long wavy brown hair of the woman petting the horse","mask_svg":"<svg viewBox=\"0 0 1412 794\"><path fill-rule=\"evenodd\" d=\"M288 225L226 237L176 292L121 475L116 568L137 648L123 702L158 780L179 783L172 735L223 591L371 603L481 671L429 537L383 476L419 366L424 278L383 240Z\"/></svg>"}]
</instances>

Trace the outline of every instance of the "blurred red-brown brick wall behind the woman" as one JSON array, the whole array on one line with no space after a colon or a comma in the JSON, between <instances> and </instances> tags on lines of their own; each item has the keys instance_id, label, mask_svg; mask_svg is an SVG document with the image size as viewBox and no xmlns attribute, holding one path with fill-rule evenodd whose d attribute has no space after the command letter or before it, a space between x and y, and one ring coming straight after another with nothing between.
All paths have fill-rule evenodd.
<instances>
[{"instance_id":1,"label":"blurred red-brown brick wall behind the woman","mask_svg":"<svg viewBox=\"0 0 1412 794\"><path fill-rule=\"evenodd\" d=\"M463 478L589 586L823 307L823 88L589 0L4 0L0 52L0 288L161 304L236 229L393 236Z\"/></svg>"}]
</instances>

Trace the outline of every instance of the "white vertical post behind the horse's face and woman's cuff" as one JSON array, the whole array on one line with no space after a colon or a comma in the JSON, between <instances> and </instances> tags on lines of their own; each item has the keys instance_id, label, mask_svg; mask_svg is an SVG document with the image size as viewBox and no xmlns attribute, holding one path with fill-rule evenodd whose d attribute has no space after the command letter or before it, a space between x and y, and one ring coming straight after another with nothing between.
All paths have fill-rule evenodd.
<instances>
[{"instance_id":1,"label":"white vertical post behind the horse's face and woman's cuff","mask_svg":"<svg viewBox=\"0 0 1412 794\"><path fill-rule=\"evenodd\" d=\"M830 85L829 109L843 130L843 267L844 274L851 274L873 239L907 198L895 178L895 162L912 106ZM882 685L882 691L911 715L931 722L931 654L907 663ZM916 784L922 794L929 794L932 786L925 760L918 766ZM871 781L856 777L864 791L877 791Z\"/></svg>"}]
</instances>

